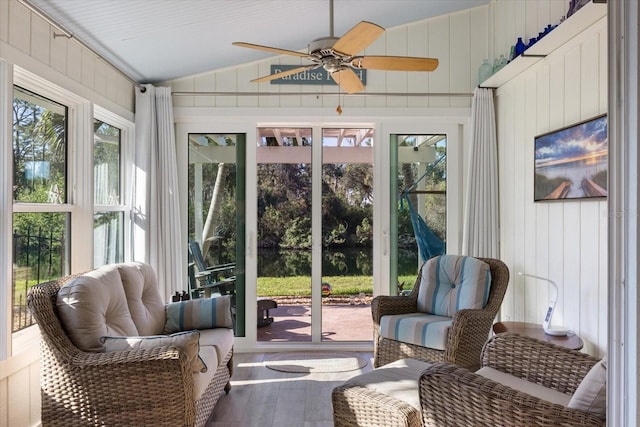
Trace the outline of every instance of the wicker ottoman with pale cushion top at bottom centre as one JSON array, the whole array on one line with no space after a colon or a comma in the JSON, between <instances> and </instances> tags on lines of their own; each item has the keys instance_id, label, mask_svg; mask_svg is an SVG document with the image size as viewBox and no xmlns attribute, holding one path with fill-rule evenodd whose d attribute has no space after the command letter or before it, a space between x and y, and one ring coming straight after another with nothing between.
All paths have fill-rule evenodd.
<instances>
[{"instance_id":1,"label":"wicker ottoman with pale cushion top at bottom centre","mask_svg":"<svg viewBox=\"0 0 640 427\"><path fill-rule=\"evenodd\" d=\"M343 426L422 425L418 381L428 362L401 359L333 389L333 422Z\"/></svg>"}]
</instances>

